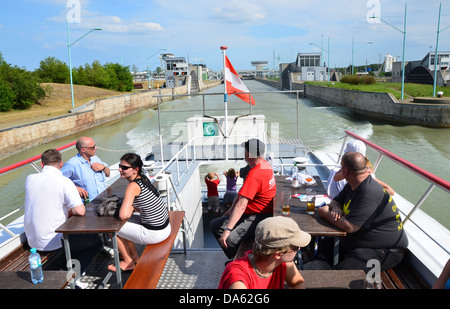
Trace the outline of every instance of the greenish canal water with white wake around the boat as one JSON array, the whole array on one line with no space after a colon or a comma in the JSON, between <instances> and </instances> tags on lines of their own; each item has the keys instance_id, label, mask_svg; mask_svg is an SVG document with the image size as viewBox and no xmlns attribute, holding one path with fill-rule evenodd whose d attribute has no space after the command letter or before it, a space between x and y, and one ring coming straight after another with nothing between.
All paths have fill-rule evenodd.
<instances>
[{"instance_id":1,"label":"greenish canal water with white wake around the boat","mask_svg":"<svg viewBox=\"0 0 450 309\"><path fill-rule=\"evenodd\" d=\"M257 81L245 81L252 92L277 91ZM223 93L223 85L207 90L205 93ZM355 116L343 107L331 107L323 103L305 99L300 96L298 112L300 128L296 125L295 95L280 93L254 94L256 105L254 114L264 114L268 123L268 132L272 136L298 138L311 149L338 152L345 130L352 131L379 146L403 157L431 173L448 180L450 175L450 129L431 129L419 126L393 126L373 122ZM224 114L223 95L207 96L205 105L207 114L219 116ZM186 119L193 114L202 115L201 97L182 97L162 105L161 125L164 142L187 141ZM189 110L190 113L182 112ZM249 113L249 105L234 96L228 97L228 114L243 115ZM155 110L143 110L114 123L100 126L85 132L34 147L20 154L0 161L0 167L38 155L49 148L55 148L76 140L79 136L91 136L99 149L97 155L108 164L116 163L122 154L136 152L145 156L150 146L158 147L158 115ZM67 161L75 150L63 153ZM368 151L373 162L377 155ZM219 174L227 166L217 167ZM0 177L0 217L23 205L24 181L33 173L31 167L21 168ZM383 159L376 172L377 177L389 178L389 185L405 197L412 196L416 202L428 187L426 182L416 175L406 172ZM448 194L441 189L434 189L421 207L447 228L450 228Z\"/></svg>"}]
</instances>

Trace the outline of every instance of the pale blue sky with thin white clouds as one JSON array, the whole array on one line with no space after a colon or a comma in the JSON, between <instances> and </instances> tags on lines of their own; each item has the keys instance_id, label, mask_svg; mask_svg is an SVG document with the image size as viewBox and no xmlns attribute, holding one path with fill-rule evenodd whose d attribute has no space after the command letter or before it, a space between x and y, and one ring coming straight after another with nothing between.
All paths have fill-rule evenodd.
<instances>
[{"instance_id":1,"label":"pale blue sky with thin white clouds","mask_svg":"<svg viewBox=\"0 0 450 309\"><path fill-rule=\"evenodd\" d=\"M71 46L74 67L99 60L143 71L148 56L161 65L165 48L219 71L220 46L236 70L254 69L251 61L273 69L299 52L322 51L330 67L352 55L355 65L381 63L401 59L406 4L405 60L421 60L435 50L440 2L439 50L449 51L450 0L0 0L0 53L30 71L47 57L68 64L68 24L71 43L102 28Z\"/></svg>"}]
</instances>

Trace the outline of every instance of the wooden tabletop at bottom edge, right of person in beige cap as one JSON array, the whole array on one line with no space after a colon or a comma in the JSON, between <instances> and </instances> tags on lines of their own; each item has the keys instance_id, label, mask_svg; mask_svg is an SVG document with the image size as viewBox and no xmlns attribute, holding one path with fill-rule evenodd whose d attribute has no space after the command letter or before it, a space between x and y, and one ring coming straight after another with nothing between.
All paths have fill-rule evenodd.
<instances>
[{"instance_id":1,"label":"wooden tabletop at bottom edge, right of person in beige cap","mask_svg":"<svg viewBox=\"0 0 450 309\"><path fill-rule=\"evenodd\" d=\"M307 289L364 289L362 270L302 270Z\"/></svg>"}]
</instances>

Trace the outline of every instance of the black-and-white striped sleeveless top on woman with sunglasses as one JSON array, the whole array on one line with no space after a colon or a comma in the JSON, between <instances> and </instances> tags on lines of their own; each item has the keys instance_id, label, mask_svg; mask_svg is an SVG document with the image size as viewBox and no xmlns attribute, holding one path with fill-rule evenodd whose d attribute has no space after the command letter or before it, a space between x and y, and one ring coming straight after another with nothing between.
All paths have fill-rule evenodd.
<instances>
[{"instance_id":1,"label":"black-and-white striped sleeveless top on woman with sunglasses","mask_svg":"<svg viewBox=\"0 0 450 309\"><path fill-rule=\"evenodd\" d=\"M169 212L158 190L146 176L133 180L141 188L133 206L139 210L142 225L150 230L162 230L169 224Z\"/></svg>"}]
</instances>

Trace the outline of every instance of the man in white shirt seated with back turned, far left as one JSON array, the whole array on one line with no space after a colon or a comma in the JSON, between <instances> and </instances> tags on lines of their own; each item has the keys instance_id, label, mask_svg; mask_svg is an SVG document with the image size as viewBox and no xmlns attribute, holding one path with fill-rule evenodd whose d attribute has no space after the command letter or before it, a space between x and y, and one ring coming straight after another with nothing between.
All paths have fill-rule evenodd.
<instances>
[{"instance_id":1,"label":"man in white shirt seated with back turned, far left","mask_svg":"<svg viewBox=\"0 0 450 309\"><path fill-rule=\"evenodd\" d=\"M59 151L45 151L41 161L42 171L29 175L25 181L25 234L31 248L62 250L62 234L55 230L69 214L84 216L86 209L74 183L60 171L63 163ZM69 242L72 259L80 262L82 274L103 243L97 234L70 234ZM63 267L61 263L64 261L58 260L48 269L59 269Z\"/></svg>"}]
</instances>

